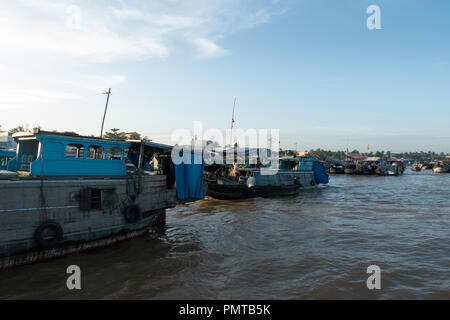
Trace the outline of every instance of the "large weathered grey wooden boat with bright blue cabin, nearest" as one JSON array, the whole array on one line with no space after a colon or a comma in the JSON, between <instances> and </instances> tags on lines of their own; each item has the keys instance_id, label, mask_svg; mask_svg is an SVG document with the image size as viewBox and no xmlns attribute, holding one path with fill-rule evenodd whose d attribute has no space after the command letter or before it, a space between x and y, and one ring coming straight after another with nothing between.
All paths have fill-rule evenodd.
<instances>
[{"instance_id":1,"label":"large weathered grey wooden boat with bright blue cabin, nearest","mask_svg":"<svg viewBox=\"0 0 450 320\"><path fill-rule=\"evenodd\" d=\"M141 169L161 145L40 130L15 139L0 171L0 270L143 235L179 203L169 172Z\"/></svg>"}]
</instances>

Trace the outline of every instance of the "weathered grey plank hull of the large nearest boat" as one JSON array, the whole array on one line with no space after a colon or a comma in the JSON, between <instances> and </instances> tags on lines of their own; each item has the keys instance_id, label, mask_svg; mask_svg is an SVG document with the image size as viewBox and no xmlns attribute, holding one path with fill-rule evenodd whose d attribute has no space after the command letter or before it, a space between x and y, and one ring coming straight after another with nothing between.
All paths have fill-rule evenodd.
<instances>
[{"instance_id":1,"label":"weathered grey plank hull of the large nearest boat","mask_svg":"<svg viewBox=\"0 0 450 320\"><path fill-rule=\"evenodd\" d=\"M100 209L81 210L80 193L86 188L101 190ZM131 203L143 212L143 219L137 223L129 223L124 216L124 208ZM114 241L111 239L127 238L127 235L148 230L156 222L163 222L165 215L161 213L176 204L176 191L166 189L164 175L0 180L2 264L10 265L11 261L16 261L12 257L17 255L25 257L19 258L20 261L35 261L107 245ZM160 214L155 215L158 212ZM34 238L36 229L46 221L55 221L63 230L63 242L50 250L51 253L42 253Z\"/></svg>"}]
</instances>

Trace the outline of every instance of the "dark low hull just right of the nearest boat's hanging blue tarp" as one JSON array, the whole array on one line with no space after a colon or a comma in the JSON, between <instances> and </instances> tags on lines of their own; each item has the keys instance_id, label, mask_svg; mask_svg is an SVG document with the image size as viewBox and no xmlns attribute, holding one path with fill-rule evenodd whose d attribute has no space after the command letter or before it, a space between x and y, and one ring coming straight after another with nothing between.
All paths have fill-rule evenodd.
<instances>
[{"instance_id":1,"label":"dark low hull just right of the nearest boat's hanging blue tarp","mask_svg":"<svg viewBox=\"0 0 450 320\"><path fill-rule=\"evenodd\" d=\"M301 186L298 184L286 186L254 186L249 188L246 184L218 184L209 182L206 195L221 200L286 197L298 194L300 188Z\"/></svg>"}]
</instances>

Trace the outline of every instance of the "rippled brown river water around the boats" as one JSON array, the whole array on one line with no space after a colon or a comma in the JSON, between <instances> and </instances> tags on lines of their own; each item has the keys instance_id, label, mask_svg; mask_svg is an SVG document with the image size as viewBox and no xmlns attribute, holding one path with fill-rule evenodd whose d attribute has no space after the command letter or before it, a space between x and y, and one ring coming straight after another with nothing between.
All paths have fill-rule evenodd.
<instances>
[{"instance_id":1,"label":"rippled brown river water around the boats","mask_svg":"<svg viewBox=\"0 0 450 320\"><path fill-rule=\"evenodd\" d=\"M450 174L331 177L279 199L208 199L112 247L0 272L0 299L450 299ZM66 287L69 265L82 290ZM381 269L369 290L367 267Z\"/></svg>"}]
</instances>

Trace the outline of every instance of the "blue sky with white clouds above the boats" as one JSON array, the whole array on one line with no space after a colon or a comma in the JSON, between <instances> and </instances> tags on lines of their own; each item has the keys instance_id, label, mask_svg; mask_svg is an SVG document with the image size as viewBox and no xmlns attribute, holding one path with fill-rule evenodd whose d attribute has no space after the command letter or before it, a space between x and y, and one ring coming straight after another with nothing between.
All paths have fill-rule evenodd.
<instances>
[{"instance_id":1,"label":"blue sky with white clouds above the boats","mask_svg":"<svg viewBox=\"0 0 450 320\"><path fill-rule=\"evenodd\" d=\"M450 152L450 2L6 1L0 125L170 142L280 129L281 147ZM381 30L366 27L369 5Z\"/></svg>"}]
</instances>

